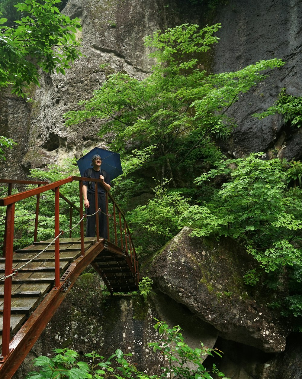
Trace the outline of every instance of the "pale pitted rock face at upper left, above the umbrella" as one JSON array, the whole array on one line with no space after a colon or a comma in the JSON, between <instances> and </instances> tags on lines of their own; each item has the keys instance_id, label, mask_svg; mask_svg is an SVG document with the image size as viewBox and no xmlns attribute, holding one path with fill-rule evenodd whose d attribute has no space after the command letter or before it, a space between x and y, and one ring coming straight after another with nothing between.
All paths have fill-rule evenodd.
<instances>
[{"instance_id":1,"label":"pale pitted rock face at upper left, above the umbrella","mask_svg":"<svg viewBox=\"0 0 302 379\"><path fill-rule=\"evenodd\" d=\"M159 28L156 0L70 0L63 12L81 19L83 30L77 38L82 41L83 57L66 75L42 74L41 87L31 89L30 103L8 91L2 93L1 133L19 143L14 153L8 152L6 163L0 162L3 178L24 178L30 168L44 168L66 157L80 158L83 150L104 147L105 141L97 135L99 121L67 128L63 114L78 109L78 102L90 98L114 71L142 78L151 68L143 38ZM108 69L100 69L100 64L107 64ZM16 172L21 164L23 172Z\"/></svg>"}]
</instances>

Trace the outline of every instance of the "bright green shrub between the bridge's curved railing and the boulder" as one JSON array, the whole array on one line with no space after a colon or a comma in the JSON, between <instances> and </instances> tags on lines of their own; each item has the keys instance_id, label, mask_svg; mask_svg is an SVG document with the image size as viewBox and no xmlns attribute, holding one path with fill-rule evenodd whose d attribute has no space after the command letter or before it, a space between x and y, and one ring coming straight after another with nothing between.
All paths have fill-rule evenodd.
<instances>
[{"instance_id":1,"label":"bright green shrub between the bridge's curved railing and the boulder","mask_svg":"<svg viewBox=\"0 0 302 379\"><path fill-rule=\"evenodd\" d=\"M188 208L188 201L180 193L169 192L158 184L155 197L127 213L127 221L138 254L154 253L174 237L182 224L180 218Z\"/></svg>"}]
</instances>

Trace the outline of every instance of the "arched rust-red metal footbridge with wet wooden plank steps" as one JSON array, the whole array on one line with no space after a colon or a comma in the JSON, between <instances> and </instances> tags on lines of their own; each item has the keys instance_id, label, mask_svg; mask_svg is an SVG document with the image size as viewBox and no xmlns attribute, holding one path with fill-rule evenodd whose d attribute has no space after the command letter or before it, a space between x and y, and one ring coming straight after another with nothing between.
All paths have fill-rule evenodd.
<instances>
[{"instance_id":1,"label":"arched rust-red metal footbridge with wet wooden plank steps","mask_svg":"<svg viewBox=\"0 0 302 379\"><path fill-rule=\"evenodd\" d=\"M0 207L6 207L3 258L0 258L1 379L13 376L77 277L89 264L100 274L111 295L138 290L135 248L125 217L108 192L108 239L100 238L98 228L95 237L84 237L83 180L82 177L69 177L54 183L0 180L0 183L8 183L8 196L0 199ZM102 185L99 179L90 180ZM60 188L70 182L79 183L79 208L60 194ZM37 187L12 194L14 183ZM55 192L54 235L47 241L38 241L40 194L46 191ZM33 244L14 251L15 206L29 197L36 201ZM60 199L70 206L67 237L59 226ZM73 211L77 211L78 216L73 218ZM98 225L98 213L95 218ZM71 237L74 224L80 228L77 237Z\"/></svg>"}]
</instances>

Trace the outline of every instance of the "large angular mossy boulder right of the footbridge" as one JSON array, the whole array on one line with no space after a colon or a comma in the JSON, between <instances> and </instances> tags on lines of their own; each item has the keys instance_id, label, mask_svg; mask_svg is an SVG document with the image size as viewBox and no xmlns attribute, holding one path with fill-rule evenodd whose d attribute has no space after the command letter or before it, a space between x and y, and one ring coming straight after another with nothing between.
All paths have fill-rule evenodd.
<instances>
[{"instance_id":1,"label":"large angular mossy boulder right of the footbridge","mask_svg":"<svg viewBox=\"0 0 302 379\"><path fill-rule=\"evenodd\" d=\"M289 334L285 321L252 296L243 282L250 257L233 240L191 238L185 227L156 255L149 276L163 293L219 330L223 338L265 352L283 351Z\"/></svg>"}]
</instances>

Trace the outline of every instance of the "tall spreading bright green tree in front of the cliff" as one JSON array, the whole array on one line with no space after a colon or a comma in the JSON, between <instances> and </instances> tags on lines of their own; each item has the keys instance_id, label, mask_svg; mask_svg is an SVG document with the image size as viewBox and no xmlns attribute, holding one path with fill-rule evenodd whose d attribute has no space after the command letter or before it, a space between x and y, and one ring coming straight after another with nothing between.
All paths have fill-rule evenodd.
<instances>
[{"instance_id":1,"label":"tall spreading bright green tree in front of the cliff","mask_svg":"<svg viewBox=\"0 0 302 379\"><path fill-rule=\"evenodd\" d=\"M218 42L214 33L220 27L184 24L147 36L145 46L155 61L151 74L144 80L121 72L111 75L90 100L80 103L82 110L66 114L66 124L98 117L105 121L100 134L114 133L111 148L127 152L155 146L156 177L161 182L171 178L175 186L174 175L186 160L192 164L192 155L203 159L211 138L229 135L234 121L227 110L239 94L263 80L261 72L284 64L273 59L237 72L207 72L201 62Z\"/></svg>"}]
</instances>

